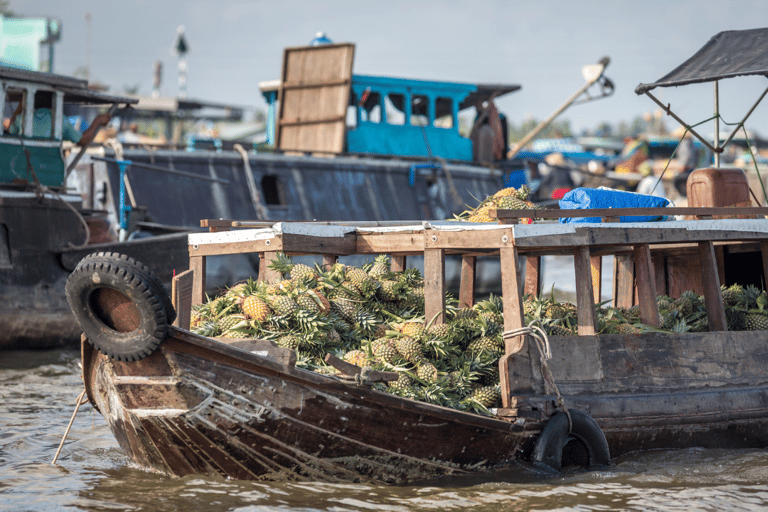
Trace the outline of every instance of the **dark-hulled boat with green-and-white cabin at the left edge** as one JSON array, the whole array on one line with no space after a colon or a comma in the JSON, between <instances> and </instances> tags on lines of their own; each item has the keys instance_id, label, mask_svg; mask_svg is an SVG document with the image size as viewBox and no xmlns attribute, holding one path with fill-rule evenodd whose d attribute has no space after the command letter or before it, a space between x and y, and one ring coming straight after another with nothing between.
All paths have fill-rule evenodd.
<instances>
[{"instance_id":1,"label":"dark-hulled boat with green-and-white cabin at the left edge","mask_svg":"<svg viewBox=\"0 0 768 512\"><path fill-rule=\"evenodd\" d=\"M14 133L9 118L0 133L0 349L74 346L80 329L64 284L77 262L89 252L119 250L152 264L170 283L174 269L186 268L186 233L118 241L105 212L84 207L65 186L65 107L106 106L113 113L133 100L95 92L84 80L10 67L0 67L0 84L0 103L15 111L20 127ZM36 125L43 110L47 132Z\"/></svg>"}]
</instances>

